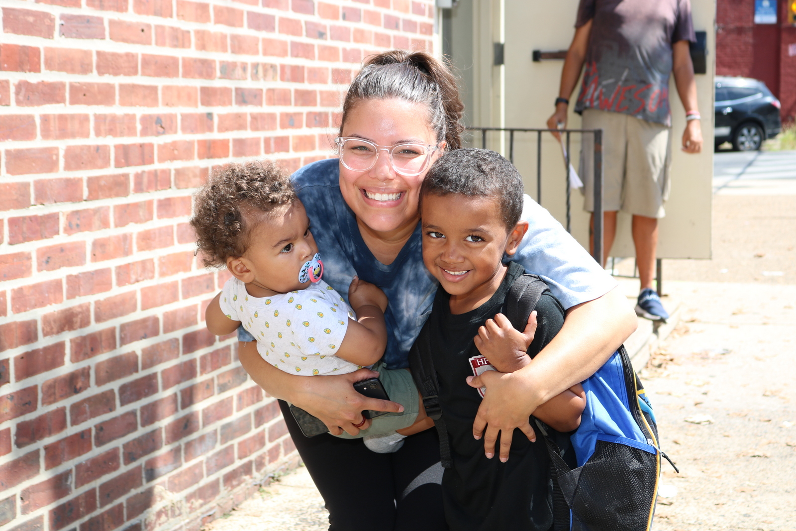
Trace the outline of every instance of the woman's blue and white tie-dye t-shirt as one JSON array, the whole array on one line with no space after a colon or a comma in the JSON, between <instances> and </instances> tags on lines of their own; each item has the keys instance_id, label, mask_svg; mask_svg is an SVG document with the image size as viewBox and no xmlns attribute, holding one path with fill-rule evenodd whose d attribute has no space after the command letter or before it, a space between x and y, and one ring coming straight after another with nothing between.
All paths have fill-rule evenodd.
<instances>
[{"instance_id":1,"label":"woman's blue and white tie-dye t-shirt","mask_svg":"<svg viewBox=\"0 0 796 531\"><path fill-rule=\"evenodd\" d=\"M384 314L388 333L384 363L388 369L408 367L409 349L431 312L438 286L423 265L420 224L396 260L381 264L362 240L357 218L340 193L338 159L313 162L292 179L321 252L323 279L346 301L353 275L384 291L389 300ZM522 219L529 222L529 230L510 260L544 278L564 308L596 299L616 286L561 224L527 195ZM238 338L253 340L243 328L238 329Z\"/></svg>"}]
</instances>

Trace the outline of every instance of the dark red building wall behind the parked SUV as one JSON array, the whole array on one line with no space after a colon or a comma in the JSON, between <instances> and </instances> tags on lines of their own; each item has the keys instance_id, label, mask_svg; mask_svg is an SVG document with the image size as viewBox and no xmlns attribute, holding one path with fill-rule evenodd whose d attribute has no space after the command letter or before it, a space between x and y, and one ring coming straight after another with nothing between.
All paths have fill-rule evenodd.
<instances>
[{"instance_id":1,"label":"dark red building wall behind the parked SUV","mask_svg":"<svg viewBox=\"0 0 796 531\"><path fill-rule=\"evenodd\" d=\"M787 3L778 2L777 25L755 25L755 0L718 0L716 75L768 77L764 80L782 103L783 122L793 122L796 52L790 55L790 45L796 45L796 27L787 22Z\"/></svg>"}]
</instances>

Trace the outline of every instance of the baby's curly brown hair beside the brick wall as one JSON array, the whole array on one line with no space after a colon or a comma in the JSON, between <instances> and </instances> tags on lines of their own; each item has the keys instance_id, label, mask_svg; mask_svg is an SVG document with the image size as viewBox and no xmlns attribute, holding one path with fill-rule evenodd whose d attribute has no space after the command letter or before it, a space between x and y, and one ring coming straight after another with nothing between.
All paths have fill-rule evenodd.
<instances>
[{"instance_id":1,"label":"baby's curly brown hair beside the brick wall","mask_svg":"<svg viewBox=\"0 0 796 531\"><path fill-rule=\"evenodd\" d=\"M194 194L191 225L205 267L220 267L243 256L256 214L272 213L296 201L290 178L273 162L230 164L213 172ZM254 218L254 219L253 219Z\"/></svg>"}]
</instances>

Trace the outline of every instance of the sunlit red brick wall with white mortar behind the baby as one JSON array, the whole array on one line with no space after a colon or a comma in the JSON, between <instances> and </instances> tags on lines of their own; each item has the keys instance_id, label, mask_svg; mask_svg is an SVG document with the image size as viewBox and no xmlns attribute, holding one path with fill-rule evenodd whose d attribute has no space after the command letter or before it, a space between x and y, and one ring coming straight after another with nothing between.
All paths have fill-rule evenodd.
<instances>
[{"instance_id":1,"label":"sunlit red brick wall with white mortar behind the baby","mask_svg":"<svg viewBox=\"0 0 796 531\"><path fill-rule=\"evenodd\" d=\"M2 2L2 529L198 529L295 460L205 330L191 193L330 156L362 58L431 49L433 2L258 1Z\"/></svg>"}]
</instances>

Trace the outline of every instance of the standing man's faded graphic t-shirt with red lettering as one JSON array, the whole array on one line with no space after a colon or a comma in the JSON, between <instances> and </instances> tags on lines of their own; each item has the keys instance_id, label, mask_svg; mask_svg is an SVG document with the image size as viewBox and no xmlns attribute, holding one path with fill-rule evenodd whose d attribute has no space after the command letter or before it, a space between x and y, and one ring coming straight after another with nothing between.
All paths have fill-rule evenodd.
<instances>
[{"instance_id":1,"label":"standing man's faded graphic t-shirt with red lettering","mask_svg":"<svg viewBox=\"0 0 796 531\"><path fill-rule=\"evenodd\" d=\"M696 41L690 0L580 0L576 28L593 20L575 111L672 124L672 45Z\"/></svg>"}]
</instances>

